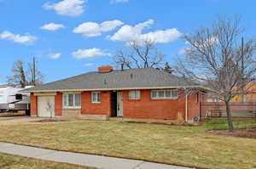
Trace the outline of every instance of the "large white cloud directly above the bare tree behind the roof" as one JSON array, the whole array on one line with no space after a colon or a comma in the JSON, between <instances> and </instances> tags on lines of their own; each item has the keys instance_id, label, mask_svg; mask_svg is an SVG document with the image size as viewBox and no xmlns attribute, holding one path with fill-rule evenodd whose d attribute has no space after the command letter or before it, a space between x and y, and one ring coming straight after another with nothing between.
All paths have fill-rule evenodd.
<instances>
[{"instance_id":1,"label":"large white cloud directly above the bare tree behind the roof","mask_svg":"<svg viewBox=\"0 0 256 169\"><path fill-rule=\"evenodd\" d=\"M150 25L154 24L154 20L147 20L146 22L137 24L135 26L123 25L119 31L117 31L112 37L109 37L112 41L123 42L142 42L143 40L151 40L156 43L172 42L181 37L182 33L177 31L176 28L150 31L143 34L143 30Z\"/></svg>"}]
</instances>

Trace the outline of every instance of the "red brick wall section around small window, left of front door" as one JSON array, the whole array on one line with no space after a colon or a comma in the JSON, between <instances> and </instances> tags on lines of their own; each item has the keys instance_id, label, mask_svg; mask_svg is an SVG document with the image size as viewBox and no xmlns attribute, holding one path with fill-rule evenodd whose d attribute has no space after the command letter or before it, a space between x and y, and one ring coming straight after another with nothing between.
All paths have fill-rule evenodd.
<instances>
[{"instance_id":1,"label":"red brick wall section around small window, left of front door","mask_svg":"<svg viewBox=\"0 0 256 169\"><path fill-rule=\"evenodd\" d=\"M91 103L91 92L83 92L82 114L84 115L111 115L111 92L101 91L101 103Z\"/></svg>"}]
</instances>

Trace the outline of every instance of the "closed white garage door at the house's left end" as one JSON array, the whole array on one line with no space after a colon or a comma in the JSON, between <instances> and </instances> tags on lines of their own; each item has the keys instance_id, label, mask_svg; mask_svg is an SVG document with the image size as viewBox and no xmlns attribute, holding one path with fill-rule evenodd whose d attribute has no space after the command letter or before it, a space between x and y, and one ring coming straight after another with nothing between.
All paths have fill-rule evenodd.
<instances>
[{"instance_id":1,"label":"closed white garage door at the house's left end","mask_svg":"<svg viewBox=\"0 0 256 169\"><path fill-rule=\"evenodd\" d=\"M38 96L38 116L55 116L55 96Z\"/></svg>"}]
</instances>

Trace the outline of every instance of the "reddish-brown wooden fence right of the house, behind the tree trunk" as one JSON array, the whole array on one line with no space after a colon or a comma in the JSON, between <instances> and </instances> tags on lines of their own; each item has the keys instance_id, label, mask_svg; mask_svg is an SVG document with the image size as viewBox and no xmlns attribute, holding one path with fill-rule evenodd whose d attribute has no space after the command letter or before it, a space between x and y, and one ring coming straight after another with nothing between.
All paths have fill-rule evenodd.
<instances>
[{"instance_id":1,"label":"reddish-brown wooden fence right of the house, behind the tree trunk","mask_svg":"<svg viewBox=\"0 0 256 169\"><path fill-rule=\"evenodd\" d=\"M256 120L256 102L230 102L230 110L235 120ZM201 119L226 119L224 102L201 102Z\"/></svg>"}]
</instances>

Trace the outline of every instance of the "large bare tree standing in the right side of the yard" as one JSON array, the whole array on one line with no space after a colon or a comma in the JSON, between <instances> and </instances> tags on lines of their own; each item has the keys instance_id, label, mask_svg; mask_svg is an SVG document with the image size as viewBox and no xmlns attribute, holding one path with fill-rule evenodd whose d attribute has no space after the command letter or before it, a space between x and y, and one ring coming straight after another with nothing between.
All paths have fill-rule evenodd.
<instances>
[{"instance_id":1,"label":"large bare tree standing in the right side of the yard","mask_svg":"<svg viewBox=\"0 0 256 169\"><path fill-rule=\"evenodd\" d=\"M241 42L243 29L240 18L219 17L211 27L184 36L189 47L177 60L177 73L201 82L216 91L216 98L224 101L229 128L233 129L230 100L247 84L255 80L256 42ZM182 59L181 59L182 58ZM243 91L246 93L246 91Z\"/></svg>"}]
</instances>

